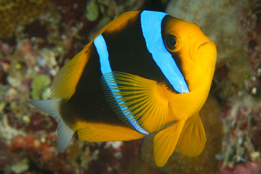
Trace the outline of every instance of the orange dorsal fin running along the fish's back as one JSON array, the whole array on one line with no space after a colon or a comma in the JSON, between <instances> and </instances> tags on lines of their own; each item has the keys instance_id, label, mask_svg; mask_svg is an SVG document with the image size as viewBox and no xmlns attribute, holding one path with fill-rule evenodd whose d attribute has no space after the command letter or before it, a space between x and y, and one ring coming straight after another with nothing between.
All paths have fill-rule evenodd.
<instances>
[{"instance_id":1,"label":"orange dorsal fin running along the fish's back","mask_svg":"<svg viewBox=\"0 0 261 174\"><path fill-rule=\"evenodd\" d=\"M66 102L72 97L81 77L82 71L89 60L93 40L105 30L111 32L117 30L117 28L122 28L122 26L128 23L131 18L135 18L138 13L139 11L129 11L112 20L109 24L104 26L102 30L100 30L100 32L84 47L81 52L75 55L72 60L62 67L51 85L50 97L52 101L58 102L63 100Z\"/></svg>"}]
</instances>

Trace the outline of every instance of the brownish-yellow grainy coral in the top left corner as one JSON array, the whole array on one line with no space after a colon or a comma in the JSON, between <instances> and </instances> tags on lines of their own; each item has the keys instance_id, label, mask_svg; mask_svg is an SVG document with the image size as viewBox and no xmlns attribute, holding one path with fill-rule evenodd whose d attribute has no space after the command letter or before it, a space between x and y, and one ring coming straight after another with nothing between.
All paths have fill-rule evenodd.
<instances>
[{"instance_id":1,"label":"brownish-yellow grainy coral in the top left corner","mask_svg":"<svg viewBox=\"0 0 261 174\"><path fill-rule=\"evenodd\" d=\"M17 26L26 25L46 12L50 0L1 0L0 1L0 38L13 36Z\"/></svg>"}]
</instances>

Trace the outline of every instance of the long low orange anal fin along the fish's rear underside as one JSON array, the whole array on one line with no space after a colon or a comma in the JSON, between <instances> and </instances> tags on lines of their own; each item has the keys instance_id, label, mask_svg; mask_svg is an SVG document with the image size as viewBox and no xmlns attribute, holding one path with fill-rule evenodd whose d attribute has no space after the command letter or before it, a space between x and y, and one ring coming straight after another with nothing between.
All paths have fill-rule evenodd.
<instances>
[{"instance_id":1,"label":"long low orange anal fin along the fish's rear underside","mask_svg":"<svg viewBox=\"0 0 261 174\"><path fill-rule=\"evenodd\" d=\"M80 140L88 142L129 141L145 136L128 127L110 125L82 128L77 133Z\"/></svg>"}]
</instances>

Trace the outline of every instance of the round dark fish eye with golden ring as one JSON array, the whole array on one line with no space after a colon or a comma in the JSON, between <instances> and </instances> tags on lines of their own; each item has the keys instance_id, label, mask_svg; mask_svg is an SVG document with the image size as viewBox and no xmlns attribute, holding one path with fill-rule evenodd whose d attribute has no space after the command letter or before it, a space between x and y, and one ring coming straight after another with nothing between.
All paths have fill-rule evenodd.
<instances>
[{"instance_id":1,"label":"round dark fish eye with golden ring","mask_svg":"<svg viewBox=\"0 0 261 174\"><path fill-rule=\"evenodd\" d=\"M169 51L176 52L180 48L180 37L174 32L169 32L165 35L164 45Z\"/></svg>"}]
</instances>

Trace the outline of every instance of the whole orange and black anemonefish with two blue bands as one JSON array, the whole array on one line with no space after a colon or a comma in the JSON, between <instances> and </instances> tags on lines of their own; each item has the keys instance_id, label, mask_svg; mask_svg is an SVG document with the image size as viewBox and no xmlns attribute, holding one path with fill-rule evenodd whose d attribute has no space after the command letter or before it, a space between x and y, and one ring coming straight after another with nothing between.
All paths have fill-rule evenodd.
<instances>
[{"instance_id":1,"label":"whole orange and black anemonefish with two blue bands","mask_svg":"<svg viewBox=\"0 0 261 174\"><path fill-rule=\"evenodd\" d=\"M135 140L159 131L154 154L163 166L175 148L188 157L203 151L198 111L215 63L215 43L197 24L158 11L129 11L62 67L51 100L28 102L56 119L59 152L75 131L88 142Z\"/></svg>"}]
</instances>

